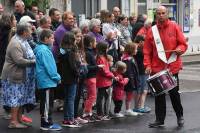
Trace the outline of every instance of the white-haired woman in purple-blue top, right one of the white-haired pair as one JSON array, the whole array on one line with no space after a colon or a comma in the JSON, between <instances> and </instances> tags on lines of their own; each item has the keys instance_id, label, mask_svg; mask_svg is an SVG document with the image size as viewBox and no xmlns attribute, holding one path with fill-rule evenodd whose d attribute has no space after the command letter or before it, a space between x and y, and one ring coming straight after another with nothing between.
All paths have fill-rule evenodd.
<instances>
[{"instance_id":1,"label":"white-haired woman in purple-blue top, right one of the white-haired pair","mask_svg":"<svg viewBox=\"0 0 200 133\"><path fill-rule=\"evenodd\" d=\"M93 18L90 20L89 24L90 32L89 36L96 38L96 42L104 41L104 37L100 34L101 32L101 21L99 19Z\"/></svg>"}]
</instances>

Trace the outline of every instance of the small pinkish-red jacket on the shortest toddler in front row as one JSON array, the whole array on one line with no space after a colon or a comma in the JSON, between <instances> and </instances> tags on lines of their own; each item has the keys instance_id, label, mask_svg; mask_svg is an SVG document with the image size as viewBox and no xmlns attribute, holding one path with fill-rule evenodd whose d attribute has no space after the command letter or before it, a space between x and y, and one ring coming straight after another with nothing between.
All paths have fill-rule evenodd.
<instances>
[{"instance_id":1,"label":"small pinkish-red jacket on the shortest toddler in front row","mask_svg":"<svg viewBox=\"0 0 200 133\"><path fill-rule=\"evenodd\" d=\"M128 78L124 78L122 74L114 73L119 80L113 85L113 100L124 99L124 86L128 83Z\"/></svg>"}]
</instances>

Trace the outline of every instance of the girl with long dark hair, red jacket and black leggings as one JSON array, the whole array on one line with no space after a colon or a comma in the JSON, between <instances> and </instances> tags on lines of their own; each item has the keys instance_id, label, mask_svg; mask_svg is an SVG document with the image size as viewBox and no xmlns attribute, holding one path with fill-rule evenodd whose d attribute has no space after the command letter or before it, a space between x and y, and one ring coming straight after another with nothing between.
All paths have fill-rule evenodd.
<instances>
[{"instance_id":1,"label":"girl with long dark hair, red jacket and black leggings","mask_svg":"<svg viewBox=\"0 0 200 133\"><path fill-rule=\"evenodd\" d=\"M110 65L108 63L107 58L107 50L108 50L108 44L104 42L99 42L97 44L97 65L103 64L104 67L102 69L99 69L97 72L97 101L96 101L96 107L97 107L97 115L98 118L101 120L109 120L108 114L106 114L106 102L108 99L108 93L107 89L112 85L112 79L114 78L113 73L110 71ZM102 108L102 102L103 98L105 103L104 110Z\"/></svg>"}]
</instances>

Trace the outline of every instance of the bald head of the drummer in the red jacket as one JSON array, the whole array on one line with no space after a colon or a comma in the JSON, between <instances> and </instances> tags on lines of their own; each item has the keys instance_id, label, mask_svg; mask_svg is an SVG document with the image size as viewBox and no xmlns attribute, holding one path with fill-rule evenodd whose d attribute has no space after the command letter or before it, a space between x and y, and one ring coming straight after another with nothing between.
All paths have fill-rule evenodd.
<instances>
[{"instance_id":1,"label":"bald head of the drummer in the red jacket","mask_svg":"<svg viewBox=\"0 0 200 133\"><path fill-rule=\"evenodd\" d=\"M168 19L168 9L165 6L159 6L156 9L156 19L163 23L165 20Z\"/></svg>"}]
</instances>

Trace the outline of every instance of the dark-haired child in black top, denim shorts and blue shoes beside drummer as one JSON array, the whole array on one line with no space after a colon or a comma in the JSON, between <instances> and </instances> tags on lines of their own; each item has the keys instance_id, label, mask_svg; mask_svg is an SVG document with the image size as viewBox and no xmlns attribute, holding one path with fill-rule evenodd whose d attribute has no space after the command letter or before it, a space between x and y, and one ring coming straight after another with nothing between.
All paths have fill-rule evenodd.
<instances>
[{"instance_id":1,"label":"dark-haired child in black top, denim shorts and blue shoes beside drummer","mask_svg":"<svg viewBox=\"0 0 200 133\"><path fill-rule=\"evenodd\" d=\"M137 88L137 95L135 100L135 109L133 111L139 112L139 113L148 113L151 111L151 108L144 106L145 99L148 93L148 87L146 84L146 80L148 78L148 75L145 74L145 68L143 64L144 55L143 55L143 45L144 45L144 37L142 35L137 35L135 37L134 42L136 45L138 45L138 51L135 55L135 59L138 64L139 68L139 80L140 80L140 87Z\"/></svg>"}]
</instances>

